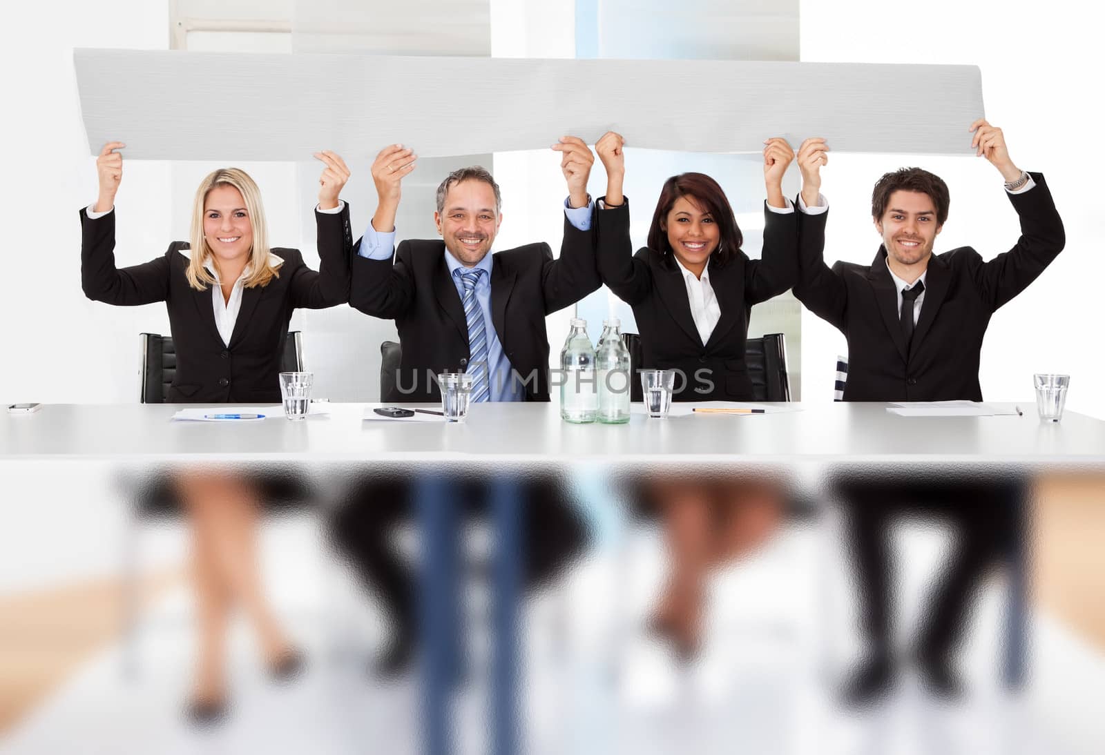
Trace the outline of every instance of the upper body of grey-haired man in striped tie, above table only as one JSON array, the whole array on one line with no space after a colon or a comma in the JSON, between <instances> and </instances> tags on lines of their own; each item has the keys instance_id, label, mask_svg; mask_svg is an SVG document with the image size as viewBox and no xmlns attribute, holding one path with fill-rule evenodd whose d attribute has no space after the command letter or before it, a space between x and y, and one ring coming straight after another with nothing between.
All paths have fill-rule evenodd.
<instances>
[{"instance_id":1,"label":"upper body of grey-haired man in striped tie, above table only","mask_svg":"<svg viewBox=\"0 0 1105 755\"><path fill-rule=\"evenodd\" d=\"M483 168L462 168L438 188L433 214L440 240L394 247L400 185L415 164L402 145L386 147L372 164L379 198L352 257L349 304L394 319L402 352L396 401L435 402L433 375L473 374L472 401L549 401L549 342L545 317L599 288L587 179L594 157L564 137L568 184L564 242L491 254L503 222L498 185Z\"/></svg>"}]
</instances>

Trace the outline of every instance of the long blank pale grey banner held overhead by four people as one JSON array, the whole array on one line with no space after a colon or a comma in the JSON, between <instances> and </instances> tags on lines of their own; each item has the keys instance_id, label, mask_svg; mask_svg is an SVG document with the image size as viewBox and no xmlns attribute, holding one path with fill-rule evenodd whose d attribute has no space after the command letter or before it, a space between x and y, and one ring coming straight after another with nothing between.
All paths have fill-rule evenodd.
<instances>
[{"instance_id":1,"label":"long blank pale grey banner held overhead by four people","mask_svg":"<svg viewBox=\"0 0 1105 755\"><path fill-rule=\"evenodd\" d=\"M545 149L617 130L631 147L971 153L972 65L406 57L76 50L90 151L128 160L303 160Z\"/></svg>"}]
</instances>

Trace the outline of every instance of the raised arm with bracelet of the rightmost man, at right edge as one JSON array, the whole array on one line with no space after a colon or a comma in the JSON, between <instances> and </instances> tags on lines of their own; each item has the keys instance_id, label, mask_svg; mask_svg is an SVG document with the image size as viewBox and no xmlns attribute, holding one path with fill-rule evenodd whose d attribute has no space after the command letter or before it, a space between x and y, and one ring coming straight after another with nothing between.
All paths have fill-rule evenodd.
<instances>
[{"instance_id":1,"label":"raised arm with bracelet of the rightmost man, at right edge","mask_svg":"<svg viewBox=\"0 0 1105 755\"><path fill-rule=\"evenodd\" d=\"M1021 223L1021 236L1009 252L983 263L975 273L976 285L991 309L997 309L1028 288L1066 244L1063 221L1041 173L1027 173L1009 157L1001 129L983 119L970 126L971 147L1001 173L1009 201Z\"/></svg>"}]
</instances>

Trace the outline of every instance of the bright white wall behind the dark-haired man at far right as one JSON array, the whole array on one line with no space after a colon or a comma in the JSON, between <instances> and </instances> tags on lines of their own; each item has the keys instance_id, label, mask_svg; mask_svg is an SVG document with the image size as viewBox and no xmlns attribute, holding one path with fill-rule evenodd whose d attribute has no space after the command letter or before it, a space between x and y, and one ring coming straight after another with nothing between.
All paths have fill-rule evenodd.
<instances>
[{"instance_id":1,"label":"bright white wall behind the dark-haired man at far right","mask_svg":"<svg viewBox=\"0 0 1105 755\"><path fill-rule=\"evenodd\" d=\"M1067 407L1097 417L1105 417L1102 296L1094 288L1105 274L1097 148L1102 20L1097 4L1073 0L801 4L802 61L980 66L987 118L1004 130L1018 166L1046 176L1066 226L1063 254L991 320L982 348L982 394L1031 404L1033 372L1069 372ZM907 164L934 171L950 189L950 215L937 252L968 244L990 258L1017 240L1017 216L1002 195L1001 178L983 158L834 155L823 182L832 208L830 264L871 262L880 243L871 222L871 188L886 170ZM802 333L803 395L828 398L844 340L809 312Z\"/></svg>"}]
</instances>

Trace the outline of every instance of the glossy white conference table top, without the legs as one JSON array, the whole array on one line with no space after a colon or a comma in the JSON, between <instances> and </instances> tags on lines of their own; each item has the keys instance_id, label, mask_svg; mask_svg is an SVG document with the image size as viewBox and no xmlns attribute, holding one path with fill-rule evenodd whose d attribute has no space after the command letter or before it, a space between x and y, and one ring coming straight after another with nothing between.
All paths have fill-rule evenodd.
<instances>
[{"instance_id":1,"label":"glossy white conference table top, without the legs","mask_svg":"<svg viewBox=\"0 0 1105 755\"><path fill-rule=\"evenodd\" d=\"M762 404L790 411L664 419L634 414L624 425L571 425L547 403L475 404L459 424L365 421L366 407L379 404L323 404L329 414L303 422L280 416L172 422L185 406L54 404L30 415L3 414L0 462L914 462L1105 469L1105 422L1067 412L1061 423L1041 423L1032 404L1021 405L1022 416L986 417L905 417L890 414L885 404ZM673 404L673 412L687 407Z\"/></svg>"}]
</instances>

